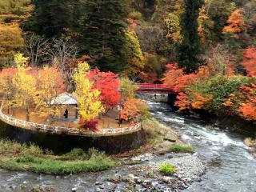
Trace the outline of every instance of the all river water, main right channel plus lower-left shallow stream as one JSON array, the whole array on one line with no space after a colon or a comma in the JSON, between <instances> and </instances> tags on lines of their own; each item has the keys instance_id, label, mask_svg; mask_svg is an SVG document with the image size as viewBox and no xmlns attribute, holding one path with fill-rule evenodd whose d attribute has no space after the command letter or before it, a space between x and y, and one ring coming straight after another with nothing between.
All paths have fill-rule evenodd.
<instances>
[{"instance_id":1,"label":"all river water, main right channel plus lower-left shallow stream","mask_svg":"<svg viewBox=\"0 0 256 192\"><path fill-rule=\"evenodd\" d=\"M154 118L178 130L182 139L191 143L198 158L206 162L206 174L201 182L194 182L186 191L196 192L256 192L256 161L243 144L242 134L227 130L210 129L206 122L184 118L170 112L170 106L148 102ZM232 125L230 125L232 126ZM217 129L216 129L217 128ZM119 169L125 173L126 167ZM26 191L30 186L53 186L55 191L94 191L99 175L110 175L117 170L98 174L51 176L10 170L0 170L0 192Z\"/></svg>"}]
</instances>

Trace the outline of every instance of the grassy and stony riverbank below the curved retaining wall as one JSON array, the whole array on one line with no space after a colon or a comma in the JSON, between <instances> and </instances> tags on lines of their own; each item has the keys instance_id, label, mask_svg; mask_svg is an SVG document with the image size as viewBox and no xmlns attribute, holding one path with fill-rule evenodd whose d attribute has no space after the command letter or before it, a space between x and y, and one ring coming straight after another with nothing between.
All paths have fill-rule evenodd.
<instances>
[{"instance_id":1,"label":"grassy and stony riverbank below the curved retaining wall","mask_svg":"<svg viewBox=\"0 0 256 192\"><path fill-rule=\"evenodd\" d=\"M91 191L116 190L182 190L198 181L205 166L195 156L191 146L186 146L177 131L154 119L142 122L146 143L138 150L126 154L107 156L97 150L84 152L73 150L70 153L55 155L38 146L26 146L17 142L0 141L0 167L7 170L21 170L24 173L98 175ZM180 152L180 153L178 153ZM181 162L181 163L180 163ZM173 164L177 171L172 175L162 174L162 163ZM105 170L103 172L98 172ZM95 172L95 173L92 173ZM79 174L80 173L80 174ZM190 173L190 174L189 174ZM57 176L59 177L59 176ZM67 177L67 176L65 176ZM93 176L95 177L95 176ZM1 178L1 177L0 177ZM2 186L0 185L0 190ZM54 186L11 186L22 191L62 191ZM6 190L8 191L8 190ZM78 190L76 191L83 191ZM88 190L90 191L90 190Z\"/></svg>"}]
</instances>

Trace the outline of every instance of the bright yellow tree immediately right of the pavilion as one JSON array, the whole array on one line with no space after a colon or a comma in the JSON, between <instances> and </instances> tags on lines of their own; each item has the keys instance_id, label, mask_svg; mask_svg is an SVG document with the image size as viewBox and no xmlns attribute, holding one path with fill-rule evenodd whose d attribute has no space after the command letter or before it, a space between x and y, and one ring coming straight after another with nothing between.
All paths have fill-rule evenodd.
<instances>
[{"instance_id":1,"label":"bright yellow tree immediately right of the pavilion","mask_svg":"<svg viewBox=\"0 0 256 192\"><path fill-rule=\"evenodd\" d=\"M89 65L86 62L78 63L78 69L74 74L74 85L78 100L78 114L85 122L97 118L104 111L100 102L100 91L93 89L93 84L88 78Z\"/></svg>"}]
</instances>

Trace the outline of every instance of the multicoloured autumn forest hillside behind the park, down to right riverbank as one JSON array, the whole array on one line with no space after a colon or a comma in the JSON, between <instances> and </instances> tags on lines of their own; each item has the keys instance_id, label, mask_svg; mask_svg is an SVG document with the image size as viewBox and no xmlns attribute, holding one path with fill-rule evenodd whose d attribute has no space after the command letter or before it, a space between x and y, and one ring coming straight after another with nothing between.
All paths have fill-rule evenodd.
<instances>
[{"instance_id":1,"label":"multicoloured autumn forest hillside behind the park, down to right riverbank","mask_svg":"<svg viewBox=\"0 0 256 192\"><path fill-rule=\"evenodd\" d=\"M30 66L57 66L66 90L74 69L165 83L180 110L256 120L254 0L3 0L0 67L24 54ZM71 71L71 72L70 72Z\"/></svg>"}]
</instances>

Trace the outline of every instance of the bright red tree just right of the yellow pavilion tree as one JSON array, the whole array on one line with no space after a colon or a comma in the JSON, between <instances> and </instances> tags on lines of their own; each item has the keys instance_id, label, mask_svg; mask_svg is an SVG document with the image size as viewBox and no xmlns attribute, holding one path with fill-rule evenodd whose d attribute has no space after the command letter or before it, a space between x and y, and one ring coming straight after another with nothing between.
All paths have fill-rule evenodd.
<instances>
[{"instance_id":1,"label":"bright red tree just right of the yellow pavilion tree","mask_svg":"<svg viewBox=\"0 0 256 192\"><path fill-rule=\"evenodd\" d=\"M117 106L120 102L118 74L112 72L101 72L96 68L89 73L93 88L101 92L100 98L106 112Z\"/></svg>"}]
</instances>

